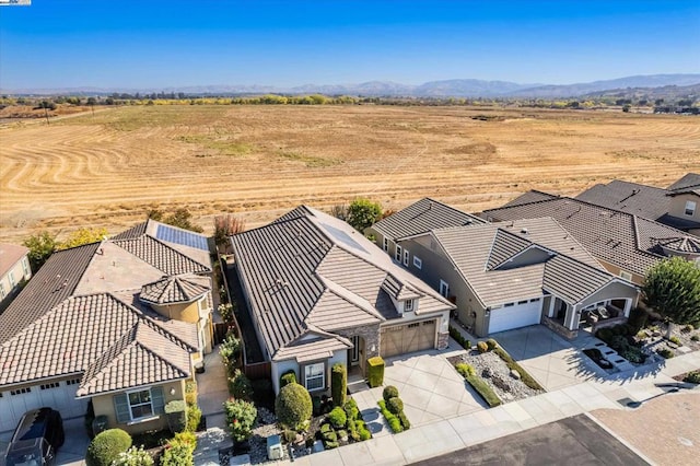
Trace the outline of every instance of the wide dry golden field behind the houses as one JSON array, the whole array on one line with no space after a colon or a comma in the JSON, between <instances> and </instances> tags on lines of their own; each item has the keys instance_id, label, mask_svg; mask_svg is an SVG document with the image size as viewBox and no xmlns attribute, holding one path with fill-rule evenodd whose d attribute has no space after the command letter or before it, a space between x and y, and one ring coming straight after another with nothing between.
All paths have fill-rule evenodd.
<instances>
[{"instance_id":1,"label":"wide dry golden field behind the houses","mask_svg":"<svg viewBox=\"0 0 700 466\"><path fill-rule=\"evenodd\" d=\"M497 117L488 120L475 116ZM308 203L431 196L468 211L612 178L666 186L700 170L700 119L620 112L392 106L142 106L0 129L0 241L116 233L152 207L211 231Z\"/></svg>"}]
</instances>

